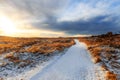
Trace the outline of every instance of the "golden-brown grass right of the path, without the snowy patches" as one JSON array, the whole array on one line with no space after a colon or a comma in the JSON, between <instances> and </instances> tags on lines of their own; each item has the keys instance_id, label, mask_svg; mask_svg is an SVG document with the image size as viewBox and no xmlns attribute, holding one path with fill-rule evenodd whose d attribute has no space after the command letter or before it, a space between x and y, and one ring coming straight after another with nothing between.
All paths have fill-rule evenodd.
<instances>
[{"instance_id":1,"label":"golden-brown grass right of the path, without the snowy patches","mask_svg":"<svg viewBox=\"0 0 120 80\"><path fill-rule=\"evenodd\" d=\"M113 35L111 32L99 36L79 38L79 40L87 44L88 50L95 63L102 62L102 52L104 53L105 58L110 60L113 56L109 53L115 53L116 48L120 49L120 34ZM116 58L116 56L114 58ZM105 64L102 65L101 68L108 71L106 73L106 80L117 80L117 75L110 72Z\"/></svg>"}]
</instances>

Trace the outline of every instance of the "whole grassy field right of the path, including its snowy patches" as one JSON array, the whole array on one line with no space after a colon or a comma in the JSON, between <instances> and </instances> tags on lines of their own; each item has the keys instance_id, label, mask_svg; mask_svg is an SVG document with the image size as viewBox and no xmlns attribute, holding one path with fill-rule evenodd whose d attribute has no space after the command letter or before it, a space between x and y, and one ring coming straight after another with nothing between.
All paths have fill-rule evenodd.
<instances>
[{"instance_id":1,"label":"whole grassy field right of the path, including its snowy patches","mask_svg":"<svg viewBox=\"0 0 120 80\"><path fill-rule=\"evenodd\" d=\"M88 46L93 61L101 63L107 80L120 79L120 34L111 32L98 36L79 38Z\"/></svg>"}]
</instances>

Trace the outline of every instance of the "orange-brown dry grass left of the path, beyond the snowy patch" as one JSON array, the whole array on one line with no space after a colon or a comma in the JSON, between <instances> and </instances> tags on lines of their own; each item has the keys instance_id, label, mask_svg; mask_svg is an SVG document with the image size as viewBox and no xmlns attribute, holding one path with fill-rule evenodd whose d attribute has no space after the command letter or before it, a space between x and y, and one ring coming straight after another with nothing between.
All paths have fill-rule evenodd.
<instances>
[{"instance_id":1,"label":"orange-brown dry grass left of the path, beyond the snowy patch","mask_svg":"<svg viewBox=\"0 0 120 80\"><path fill-rule=\"evenodd\" d=\"M5 59L14 63L26 62L20 60L20 53L52 54L54 51L63 51L74 44L69 38L12 38L0 37L0 54L6 54Z\"/></svg>"}]
</instances>

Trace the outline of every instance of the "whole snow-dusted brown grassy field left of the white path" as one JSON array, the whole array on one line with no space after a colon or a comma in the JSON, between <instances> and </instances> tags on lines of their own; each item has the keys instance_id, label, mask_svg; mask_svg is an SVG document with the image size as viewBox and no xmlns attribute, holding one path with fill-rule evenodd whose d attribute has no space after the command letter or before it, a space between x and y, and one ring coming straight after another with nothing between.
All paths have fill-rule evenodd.
<instances>
[{"instance_id":1,"label":"whole snow-dusted brown grassy field left of the white path","mask_svg":"<svg viewBox=\"0 0 120 80\"><path fill-rule=\"evenodd\" d=\"M74 45L70 38L15 38L0 36L0 80L24 72ZM22 71L23 70L23 71ZM12 74L10 73L10 74Z\"/></svg>"}]
</instances>

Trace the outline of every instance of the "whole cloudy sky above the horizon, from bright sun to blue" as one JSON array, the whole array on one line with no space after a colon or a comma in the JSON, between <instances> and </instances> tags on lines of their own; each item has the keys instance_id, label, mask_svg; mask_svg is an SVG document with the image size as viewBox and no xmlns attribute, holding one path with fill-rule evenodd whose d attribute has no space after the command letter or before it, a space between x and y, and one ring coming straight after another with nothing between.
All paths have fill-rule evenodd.
<instances>
[{"instance_id":1,"label":"whole cloudy sky above the horizon, from bright sun to blue","mask_svg":"<svg viewBox=\"0 0 120 80\"><path fill-rule=\"evenodd\" d=\"M109 31L120 32L120 0L0 0L1 35L60 37Z\"/></svg>"}]
</instances>

